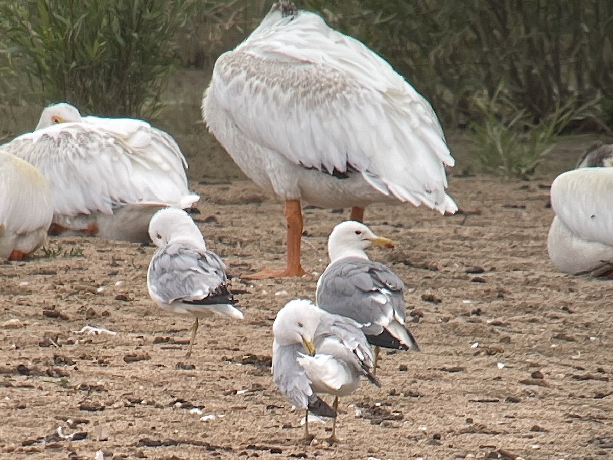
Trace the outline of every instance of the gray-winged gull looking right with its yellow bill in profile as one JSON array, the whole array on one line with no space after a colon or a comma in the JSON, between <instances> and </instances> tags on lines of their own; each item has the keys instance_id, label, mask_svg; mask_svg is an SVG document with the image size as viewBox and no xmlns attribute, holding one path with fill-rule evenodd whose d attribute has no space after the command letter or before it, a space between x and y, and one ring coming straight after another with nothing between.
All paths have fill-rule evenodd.
<instances>
[{"instance_id":1,"label":"gray-winged gull looking right with its yellow bill in profile","mask_svg":"<svg viewBox=\"0 0 613 460\"><path fill-rule=\"evenodd\" d=\"M394 247L366 225L345 221L333 228L328 239L330 265L317 282L321 309L356 320L368 342L378 347L419 351L405 324L403 282L383 263L373 262L364 251L371 244ZM376 371L376 366L375 366Z\"/></svg>"}]
</instances>

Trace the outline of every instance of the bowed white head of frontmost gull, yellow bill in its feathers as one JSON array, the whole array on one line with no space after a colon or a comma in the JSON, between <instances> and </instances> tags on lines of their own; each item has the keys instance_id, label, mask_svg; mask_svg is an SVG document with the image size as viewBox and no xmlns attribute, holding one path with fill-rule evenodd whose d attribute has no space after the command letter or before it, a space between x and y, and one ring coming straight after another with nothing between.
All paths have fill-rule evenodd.
<instances>
[{"instance_id":1,"label":"bowed white head of frontmost gull, yellow bill in its feathers","mask_svg":"<svg viewBox=\"0 0 613 460\"><path fill-rule=\"evenodd\" d=\"M272 325L275 340L281 345L302 344L309 355L315 354L314 337L324 312L310 300L294 299L276 314Z\"/></svg>"}]
</instances>

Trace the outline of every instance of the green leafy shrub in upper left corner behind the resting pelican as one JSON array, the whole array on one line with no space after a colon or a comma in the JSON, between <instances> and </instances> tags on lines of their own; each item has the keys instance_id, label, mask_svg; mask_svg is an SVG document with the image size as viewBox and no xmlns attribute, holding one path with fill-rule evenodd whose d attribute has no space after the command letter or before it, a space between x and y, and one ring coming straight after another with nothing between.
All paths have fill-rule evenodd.
<instances>
[{"instance_id":1,"label":"green leafy shrub in upper left corner behind the resting pelican","mask_svg":"<svg viewBox=\"0 0 613 460\"><path fill-rule=\"evenodd\" d=\"M0 52L44 102L152 115L193 0L0 0Z\"/></svg>"}]
</instances>

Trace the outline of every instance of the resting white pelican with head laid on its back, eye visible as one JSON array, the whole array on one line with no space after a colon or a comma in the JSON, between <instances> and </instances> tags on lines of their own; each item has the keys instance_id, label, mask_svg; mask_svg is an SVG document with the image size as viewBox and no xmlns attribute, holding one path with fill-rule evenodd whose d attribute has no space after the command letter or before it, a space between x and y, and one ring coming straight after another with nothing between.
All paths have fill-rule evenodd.
<instances>
[{"instance_id":1,"label":"resting white pelican with head laid on its back, eye visible","mask_svg":"<svg viewBox=\"0 0 613 460\"><path fill-rule=\"evenodd\" d=\"M81 117L61 103L45 108L36 130L2 148L47 177L53 192L51 233L147 242L151 216L188 208L185 157L166 132L131 118Z\"/></svg>"}]
</instances>

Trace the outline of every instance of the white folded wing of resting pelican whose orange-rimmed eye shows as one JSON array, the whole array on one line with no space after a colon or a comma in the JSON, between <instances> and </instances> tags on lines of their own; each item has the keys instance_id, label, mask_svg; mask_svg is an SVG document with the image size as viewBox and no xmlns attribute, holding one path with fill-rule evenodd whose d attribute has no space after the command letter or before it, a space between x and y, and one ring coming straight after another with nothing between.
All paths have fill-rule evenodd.
<instances>
[{"instance_id":1,"label":"white folded wing of resting pelican whose orange-rimmed eye shows","mask_svg":"<svg viewBox=\"0 0 613 460\"><path fill-rule=\"evenodd\" d=\"M55 124L21 135L2 148L47 177L56 214L110 214L115 206L140 202L184 207L190 195L178 160L180 171L91 123Z\"/></svg>"}]
</instances>

